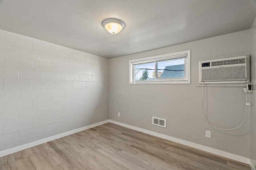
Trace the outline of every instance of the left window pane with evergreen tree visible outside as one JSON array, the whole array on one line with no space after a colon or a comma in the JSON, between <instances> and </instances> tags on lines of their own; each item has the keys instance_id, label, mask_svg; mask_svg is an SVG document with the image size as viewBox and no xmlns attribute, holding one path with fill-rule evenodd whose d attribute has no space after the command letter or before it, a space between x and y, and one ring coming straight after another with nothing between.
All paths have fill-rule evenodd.
<instances>
[{"instance_id":1,"label":"left window pane with evergreen tree visible outside","mask_svg":"<svg viewBox=\"0 0 256 170\"><path fill-rule=\"evenodd\" d=\"M135 81L155 80L155 63L145 63L135 65Z\"/></svg>"}]
</instances>

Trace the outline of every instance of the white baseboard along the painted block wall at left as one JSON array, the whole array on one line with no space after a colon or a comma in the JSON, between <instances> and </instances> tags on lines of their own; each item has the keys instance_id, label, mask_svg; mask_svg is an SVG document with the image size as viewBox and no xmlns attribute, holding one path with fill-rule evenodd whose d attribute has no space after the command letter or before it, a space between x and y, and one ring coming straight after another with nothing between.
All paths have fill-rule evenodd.
<instances>
[{"instance_id":1,"label":"white baseboard along the painted block wall at left","mask_svg":"<svg viewBox=\"0 0 256 170\"><path fill-rule=\"evenodd\" d=\"M43 143L46 143L46 142L50 142L50 141L53 141L55 139L59 139L59 138L62 138L62 137L65 137L65 136L68 136L68 135L72 135L74 133L78 133L80 131L84 131L86 129L90 129L90 128L93 128L93 127L96 127L96 126L99 126L99 125L103 125L105 123L108 123L109 120L105 120L105 121L101 121L101 122L98 122L98 123L94 123L92 125L88 125L88 126L85 126L85 127L81 127L81 128L78 128L78 129L74 129L72 131L68 131L68 132L64 132L64 133L60 133L58 135L54 135L54 136L51 136L51 137L47 137L47 138L44 138L44 139L40 139L38 141L34 141L34 142L31 142L31 143L27 143L27 144L24 144L24 145L20 145L18 147L14 147L14 148L11 148L11 149L7 149L7 150L2 150L0 152L0 157L2 156L6 156L8 154L12 154L14 152L18 152L20 150L24 150L24 149L28 149L28 148L31 148L31 147L34 147L36 145L40 145L40 144L43 144Z\"/></svg>"}]
</instances>

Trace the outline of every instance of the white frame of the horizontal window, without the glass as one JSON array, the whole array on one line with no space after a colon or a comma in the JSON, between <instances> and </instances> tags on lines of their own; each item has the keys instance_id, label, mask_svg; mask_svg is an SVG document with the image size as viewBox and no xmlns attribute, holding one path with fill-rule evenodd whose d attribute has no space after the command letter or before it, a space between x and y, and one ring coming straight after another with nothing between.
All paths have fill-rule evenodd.
<instances>
[{"instance_id":1,"label":"white frame of the horizontal window, without the glass","mask_svg":"<svg viewBox=\"0 0 256 170\"><path fill-rule=\"evenodd\" d=\"M184 78L166 78L145 81L135 81L135 65L143 63L156 63L158 61L185 58L184 62ZM156 71L157 73L157 71ZM190 50L177 53L158 55L154 57L146 57L129 61L129 84L190 84Z\"/></svg>"}]
</instances>

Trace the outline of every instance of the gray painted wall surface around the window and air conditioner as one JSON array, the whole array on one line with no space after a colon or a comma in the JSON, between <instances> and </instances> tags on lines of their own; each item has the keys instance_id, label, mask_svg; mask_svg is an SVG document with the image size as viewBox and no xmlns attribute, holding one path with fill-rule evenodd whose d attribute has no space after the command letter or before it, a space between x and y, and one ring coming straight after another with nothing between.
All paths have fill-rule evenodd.
<instances>
[{"instance_id":1,"label":"gray painted wall surface around the window and air conditioner","mask_svg":"<svg viewBox=\"0 0 256 170\"><path fill-rule=\"evenodd\" d=\"M198 61L249 54L249 43L245 30L110 59L110 119L249 158L250 108L239 129L215 130L202 117L198 84ZM129 60L185 50L191 50L191 84L129 84ZM208 119L217 127L237 127L244 116L245 85L230 86L204 91L204 110L207 106ZM166 129L152 125L152 116L167 119ZM206 130L212 132L211 139L205 137Z\"/></svg>"}]
</instances>

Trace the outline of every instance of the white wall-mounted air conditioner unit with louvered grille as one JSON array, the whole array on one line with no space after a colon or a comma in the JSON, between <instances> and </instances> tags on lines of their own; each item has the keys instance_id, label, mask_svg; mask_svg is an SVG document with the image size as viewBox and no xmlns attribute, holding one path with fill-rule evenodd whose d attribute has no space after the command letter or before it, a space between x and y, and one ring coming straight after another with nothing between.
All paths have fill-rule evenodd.
<instances>
[{"instance_id":1,"label":"white wall-mounted air conditioner unit with louvered grille","mask_svg":"<svg viewBox=\"0 0 256 170\"><path fill-rule=\"evenodd\" d=\"M199 62L199 83L249 83L250 56L229 57Z\"/></svg>"}]
</instances>

